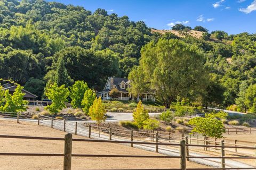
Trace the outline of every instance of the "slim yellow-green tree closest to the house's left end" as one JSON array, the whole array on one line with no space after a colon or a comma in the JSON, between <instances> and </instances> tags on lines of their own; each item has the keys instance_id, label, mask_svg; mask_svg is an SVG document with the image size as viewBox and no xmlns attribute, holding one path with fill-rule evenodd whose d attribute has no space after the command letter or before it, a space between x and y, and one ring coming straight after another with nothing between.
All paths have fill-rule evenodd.
<instances>
[{"instance_id":1,"label":"slim yellow-green tree closest to the house's left end","mask_svg":"<svg viewBox=\"0 0 256 170\"><path fill-rule=\"evenodd\" d=\"M89 113L90 107L93 105L93 101L96 98L96 94L92 89L87 89L84 92L84 98L82 100L82 109L85 113Z\"/></svg>"}]
</instances>

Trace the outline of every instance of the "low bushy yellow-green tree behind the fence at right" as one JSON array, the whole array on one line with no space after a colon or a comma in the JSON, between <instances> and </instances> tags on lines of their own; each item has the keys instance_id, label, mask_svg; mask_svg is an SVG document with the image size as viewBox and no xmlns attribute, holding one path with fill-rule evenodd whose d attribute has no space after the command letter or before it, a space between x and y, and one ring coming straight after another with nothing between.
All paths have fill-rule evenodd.
<instances>
[{"instance_id":1,"label":"low bushy yellow-green tree behind the fence at right","mask_svg":"<svg viewBox=\"0 0 256 170\"><path fill-rule=\"evenodd\" d=\"M226 118L227 114L223 113L209 113L205 114L205 117L194 117L188 122L193 126L191 132L196 132L211 138L222 138L222 134L225 132L225 126L220 120Z\"/></svg>"}]
</instances>

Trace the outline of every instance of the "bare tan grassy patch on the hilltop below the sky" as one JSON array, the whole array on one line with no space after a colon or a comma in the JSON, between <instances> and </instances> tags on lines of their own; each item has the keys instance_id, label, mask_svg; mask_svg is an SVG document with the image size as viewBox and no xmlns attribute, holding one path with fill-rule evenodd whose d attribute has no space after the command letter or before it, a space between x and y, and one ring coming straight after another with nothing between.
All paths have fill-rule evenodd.
<instances>
[{"instance_id":1,"label":"bare tan grassy patch on the hilltop below the sky","mask_svg":"<svg viewBox=\"0 0 256 170\"><path fill-rule=\"evenodd\" d=\"M157 29L151 29L151 32L154 33L154 32L158 32L158 33L161 33L161 34L164 34L166 32L171 32L173 33L174 35L178 36L178 37L186 37L186 35L182 35L181 32L179 31L175 31L175 30L157 30ZM195 38L202 38L203 37L203 32L202 31L196 31L196 30L188 30L187 32L187 35L189 36L192 36L192 37L195 37Z\"/></svg>"}]
</instances>

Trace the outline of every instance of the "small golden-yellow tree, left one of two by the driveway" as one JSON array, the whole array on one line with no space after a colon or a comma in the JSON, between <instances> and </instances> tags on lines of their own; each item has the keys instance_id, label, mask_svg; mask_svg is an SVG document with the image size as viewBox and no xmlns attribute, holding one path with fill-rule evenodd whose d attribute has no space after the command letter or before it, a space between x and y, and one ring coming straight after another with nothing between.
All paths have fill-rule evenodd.
<instances>
[{"instance_id":1,"label":"small golden-yellow tree, left one of two by the driveway","mask_svg":"<svg viewBox=\"0 0 256 170\"><path fill-rule=\"evenodd\" d=\"M93 105L89 109L89 116L99 125L101 122L105 122L107 118L105 115L106 113L106 109L101 102L101 97L95 98Z\"/></svg>"}]
</instances>

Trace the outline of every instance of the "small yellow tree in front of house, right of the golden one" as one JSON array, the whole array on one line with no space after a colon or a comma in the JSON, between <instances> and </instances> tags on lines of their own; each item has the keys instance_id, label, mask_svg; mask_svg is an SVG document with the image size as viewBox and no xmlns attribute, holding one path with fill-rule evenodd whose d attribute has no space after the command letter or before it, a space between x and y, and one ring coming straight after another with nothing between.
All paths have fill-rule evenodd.
<instances>
[{"instance_id":1,"label":"small yellow tree in front of house, right of the golden one","mask_svg":"<svg viewBox=\"0 0 256 170\"><path fill-rule=\"evenodd\" d=\"M143 122L149 119L148 111L142 106L141 100L139 101L136 111L132 114L135 125L138 128L143 128Z\"/></svg>"}]
</instances>

